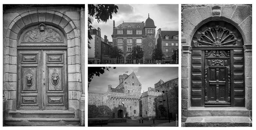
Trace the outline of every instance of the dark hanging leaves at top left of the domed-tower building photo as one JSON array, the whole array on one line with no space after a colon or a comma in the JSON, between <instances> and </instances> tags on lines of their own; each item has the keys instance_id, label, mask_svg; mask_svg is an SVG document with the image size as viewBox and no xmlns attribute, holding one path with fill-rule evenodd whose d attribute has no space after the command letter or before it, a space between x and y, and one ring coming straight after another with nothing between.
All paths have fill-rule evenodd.
<instances>
[{"instance_id":1,"label":"dark hanging leaves at top left of the domed-tower building photo","mask_svg":"<svg viewBox=\"0 0 256 130\"><path fill-rule=\"evenodd\" d=\"M107 22L108 19L112 19L112 14L115 13L117 14L117 10L118 10L118 6L114 5L114 4L97 4L97 5L93 5L93 4L88 4L88 15L90 16L94 16L95 15L95 19L97 19L98 23L100 23L101 21L103 22ZM88 17L88 48L91 49L90 47L90 42L89 40L92 39L92 36L90 35L89 30L91 30L92 26L90 25L92 24L91 19Z\"/></svg>"}]
</instances>

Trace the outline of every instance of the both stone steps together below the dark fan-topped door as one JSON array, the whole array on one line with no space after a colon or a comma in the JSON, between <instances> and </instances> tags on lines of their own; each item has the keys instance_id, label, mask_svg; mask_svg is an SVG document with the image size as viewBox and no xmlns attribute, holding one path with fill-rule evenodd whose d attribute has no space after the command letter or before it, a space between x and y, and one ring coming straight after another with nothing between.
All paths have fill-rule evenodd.
<instances>
[{"instance_id":1,"label":"both stone steps together below the dark fan-topped door","mask_svg":"<svg viewBox=\"0 0 256 130\"><path fill-rule=\"evenodd\" d=\"M191 107L187 116L185 127L252 126L252 113L243 107Z\"/></svg>"}]
</instances>

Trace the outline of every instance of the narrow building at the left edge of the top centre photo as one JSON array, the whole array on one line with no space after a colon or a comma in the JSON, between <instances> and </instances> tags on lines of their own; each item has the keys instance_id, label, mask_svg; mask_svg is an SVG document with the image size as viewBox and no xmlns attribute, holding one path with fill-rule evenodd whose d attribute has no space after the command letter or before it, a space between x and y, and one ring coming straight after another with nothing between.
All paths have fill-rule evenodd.
<instances>
[{"instance_id":1,"label":"narrow building at the left edge of the top centre photo","mask_svg":"<svg viewBox=\"0 0 256 130\"><path fill-rule=\"evenodd\" d=\"M88 64L100 64L101 63L101 29L95 29L94 27L89 30L92 36L90 42L90 49L88 48Z\"/></svg>"}]
</instances>

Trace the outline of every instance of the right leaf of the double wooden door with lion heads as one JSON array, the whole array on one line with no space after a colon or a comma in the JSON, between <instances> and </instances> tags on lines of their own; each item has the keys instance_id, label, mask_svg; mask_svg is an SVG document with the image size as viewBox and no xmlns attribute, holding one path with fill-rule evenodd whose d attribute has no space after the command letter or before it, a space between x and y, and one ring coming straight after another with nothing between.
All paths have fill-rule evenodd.
<instances>
[{"instance_id":1,"label":"right leaf of the double wooden door with lion heads","mask_svg":"<svg viewBox=\"0 0 256 130\"><path fill-rule=\"evenodd\" d=\"M66 51L44 50L44 109L67 110Z\"/></svg>"}]
</instances>

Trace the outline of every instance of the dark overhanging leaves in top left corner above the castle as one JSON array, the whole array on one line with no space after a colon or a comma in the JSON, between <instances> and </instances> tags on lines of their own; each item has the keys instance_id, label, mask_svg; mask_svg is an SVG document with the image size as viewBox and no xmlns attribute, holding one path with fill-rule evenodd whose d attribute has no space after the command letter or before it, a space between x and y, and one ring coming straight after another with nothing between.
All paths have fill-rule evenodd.
<instances>
[{"instance_id":1,"label":"dark overhanging leaves in top left corner above the castle","mask_svg":"<svg viewBox=\"0 0 256 130\"><path fill-rule=\"evenodd\" d=\"M111 67L88 67L88 88L94 75L100 76L100 74L103 74L105 72L105 69L109 71L109 68ZM116 69L116 67L113 68Z\"/></svg>"}]
</instances>

